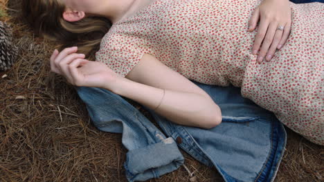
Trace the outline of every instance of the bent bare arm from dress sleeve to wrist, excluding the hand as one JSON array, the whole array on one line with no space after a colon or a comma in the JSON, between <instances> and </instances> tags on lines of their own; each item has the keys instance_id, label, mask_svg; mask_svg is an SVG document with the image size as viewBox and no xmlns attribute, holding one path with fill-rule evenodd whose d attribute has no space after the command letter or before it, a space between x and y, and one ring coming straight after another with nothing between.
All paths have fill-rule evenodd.
<instances>
[{"instance_id":1,"label":"bent bare arm from dress sleeve to wrist, excluding the hand","mask_svg":"<svg viewBox=\"0 0 324 182\"><path fill-rule=\"evenodd\" d=\"M116 93L182 125L213 128L222 122L221 110L204 90L150 54L129 72Z\"/></svg>"}]
</instances>

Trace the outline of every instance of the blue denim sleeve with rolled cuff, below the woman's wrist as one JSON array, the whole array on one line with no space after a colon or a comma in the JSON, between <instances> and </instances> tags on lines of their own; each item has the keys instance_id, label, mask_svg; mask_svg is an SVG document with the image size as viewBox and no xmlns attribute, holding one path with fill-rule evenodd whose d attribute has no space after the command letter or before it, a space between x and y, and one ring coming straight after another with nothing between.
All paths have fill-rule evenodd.
<instances>
[{"instance_id":1,"label":"blue denim sleeve with rolled cuff, below the woman's wrist","mask_svg":"<svg viewBox=\"0 0 324 182\"><path fill-rule=\"evenodd\" d=\"M122 143L129 150L124 165L128 181L157 178L183 164L177 143L123 98L101 88L76 90L99 130L123 133Z\"/></svg>"}]
</instances>

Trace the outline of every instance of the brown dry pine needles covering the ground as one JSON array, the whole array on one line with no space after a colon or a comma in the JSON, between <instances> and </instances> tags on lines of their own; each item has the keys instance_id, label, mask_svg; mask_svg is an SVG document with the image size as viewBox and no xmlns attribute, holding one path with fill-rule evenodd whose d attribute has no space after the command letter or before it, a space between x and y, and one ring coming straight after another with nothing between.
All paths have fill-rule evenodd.
<instances>
[{"instance_id":1,"label":"brown dry pine needles covering the ground","mask_svg":"<svg viewBox=\"0 0 324 182\"><path fill-rule=\"evenodd\" d=\"M126 181L121 134L94 128L73 86L49 72L55 43L34 37L21 22L19 3L0 0L0 20L10 23L19 48L14 66L0 72L0 181ZM276 181L323 181L324 147L287 132ZM223 181L215 168L183 154L197 181ZM190 176L181 167L150 181Z\"/></svg>"}]
</instances>

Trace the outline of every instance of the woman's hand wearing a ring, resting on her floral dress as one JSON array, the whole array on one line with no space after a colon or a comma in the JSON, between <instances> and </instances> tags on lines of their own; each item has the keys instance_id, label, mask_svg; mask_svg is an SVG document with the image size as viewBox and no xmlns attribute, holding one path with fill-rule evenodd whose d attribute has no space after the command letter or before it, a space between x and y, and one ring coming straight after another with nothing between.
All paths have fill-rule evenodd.
<instances>
[{"instance_id":1,"label":"woman's hand wearing a ring, resting on her floral dress","mask_svg":"<svg viewBox=\"0 0 324 182\"><path fill-rule=\"evenodd\" d=\"M260 19L258 34L255 36L252 52L258 54L257 60L270 61L276 48L282 48L291 28L291 8L288 0L264 0L255 9L249 22L249 31L255 30ZM279 30L282 26L284 29ZM261 46L262 43L262 46ZM261 48L260 48L261 46Z\"/></svg>"}]
</instances>

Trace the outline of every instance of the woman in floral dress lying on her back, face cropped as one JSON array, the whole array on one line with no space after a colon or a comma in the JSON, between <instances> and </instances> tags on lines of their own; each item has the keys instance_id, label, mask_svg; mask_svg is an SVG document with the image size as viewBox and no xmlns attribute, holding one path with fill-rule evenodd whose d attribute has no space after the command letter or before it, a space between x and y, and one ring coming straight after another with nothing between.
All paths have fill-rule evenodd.
<instances>
[{"instance_id":1,"label":"woman in floral dress lying on her back, face cropped","mask_svg":"<svg viewBox=\"0 0 324 182\"><path fill-rule=\"evenodd\" d=\"M292 130L324 144L322 3L23 2L28 21L48 39L87 55L101 41L96 62L75 53L77 47L53 52L52 71L73 85L105 88L175 123L212 128L222 112L189 79L233 84Z\"/></svg>"}]
</instances>

